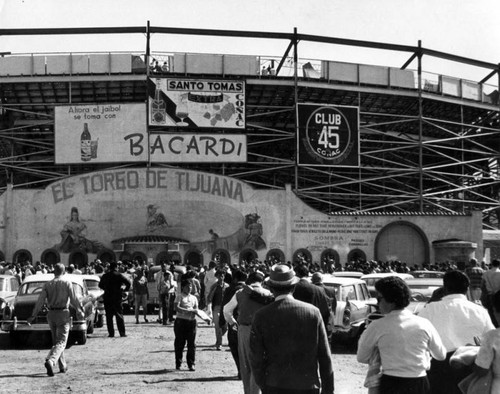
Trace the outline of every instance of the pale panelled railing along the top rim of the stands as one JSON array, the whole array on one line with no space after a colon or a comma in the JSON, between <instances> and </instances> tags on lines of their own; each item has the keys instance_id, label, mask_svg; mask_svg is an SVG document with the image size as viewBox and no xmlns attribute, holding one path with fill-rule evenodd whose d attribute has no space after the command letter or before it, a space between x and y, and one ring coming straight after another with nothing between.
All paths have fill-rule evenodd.
<instances>
[{"instance_id":1,"label":"pale panelled railing along the top rim of the stands","mask_svg":"<svg viewBox=\"0 0 500 394\"><path fill-rule=\"evenodd\" d=\"M46 75L214 75L290 78L292 57L154 52L146 66L140 53L53 53L0 57L0 78ZM149 68L149 70L148 70ZM415 70L318 59L299 59L298 77L329 83L418 89ZM488 104L498 104L498 87L489 84L423 72L422 90Z\"/></svg>"}]
</instances>

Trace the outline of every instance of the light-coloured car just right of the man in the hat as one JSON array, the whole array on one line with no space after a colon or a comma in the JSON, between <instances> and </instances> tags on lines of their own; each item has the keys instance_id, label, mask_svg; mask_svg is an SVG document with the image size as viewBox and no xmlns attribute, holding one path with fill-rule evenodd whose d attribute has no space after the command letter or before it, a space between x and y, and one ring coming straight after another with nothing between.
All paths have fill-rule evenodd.
<instances>
[{"instance_id":1,"label":"light-coloured car just right of the man in the hat","mask_svg":"<svg viewBox=\"0 0 500 394\"><path fill-rule=\"evenodd\" d=\"M377 300L370 297L366 283L361 279L324 275L323 283L335 290L337 298L332 341L357 343Z\"/></svg>"}]
</instances>

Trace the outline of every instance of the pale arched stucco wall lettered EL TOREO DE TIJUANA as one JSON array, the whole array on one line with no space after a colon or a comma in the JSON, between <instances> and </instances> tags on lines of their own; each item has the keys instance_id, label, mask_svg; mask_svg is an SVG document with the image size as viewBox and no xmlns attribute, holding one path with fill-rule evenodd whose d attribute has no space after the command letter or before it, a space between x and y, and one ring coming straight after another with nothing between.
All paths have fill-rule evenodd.
<instances>
[{"instance_id":1,"label":"pale arched stucco wall lettered EL TOREO DE TIJUANA","mask_svg":"<svg viewBox=\"0 0 500 394\"><path fill-rule=\"evenodd\" d=\"M72 208L78 220L71 221ZM432 242L461 239L478 244L482 258L480 215L343 215L321 214L286 190L256 190L229 177L181 169L129 168L68 177L42 190L7 190L0 196L1 251L11 260L19 249L39 260L56 248L67 261L70 248L85 247L89 258L112 241L139 235L184 239L211 258L209 230L237 261L243 249L264 259L280 249L287 260L308 249L314 261L328 248L345 263L353 249L375 257L377 236L394 222L411 223L429 248ZM68 230L69 229L69 230ZM73 230L71 230L73 229ZM71 231L80 231L74 236Z\"/></svg>"}]
</instances>

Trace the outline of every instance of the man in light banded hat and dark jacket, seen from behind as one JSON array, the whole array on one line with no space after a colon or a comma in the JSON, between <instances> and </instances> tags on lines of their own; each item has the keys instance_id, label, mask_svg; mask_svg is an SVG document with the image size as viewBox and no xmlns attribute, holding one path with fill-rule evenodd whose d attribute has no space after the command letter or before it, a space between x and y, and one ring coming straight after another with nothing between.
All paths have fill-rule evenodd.
<instances>
[{"instance_id":1,"label":"man in light banded hat and dark jacket, seen from behind","mask_svg":"<svg viewBox=\"0 0 500 394\"><path fill-rule=\"evenodd\" d=\"M318 308L293 298L298 281L289 266L273 266L267 284L276 299L253 318L250 363L263 394L334 391L325 325Z\"/></svg>"}]
</instances>

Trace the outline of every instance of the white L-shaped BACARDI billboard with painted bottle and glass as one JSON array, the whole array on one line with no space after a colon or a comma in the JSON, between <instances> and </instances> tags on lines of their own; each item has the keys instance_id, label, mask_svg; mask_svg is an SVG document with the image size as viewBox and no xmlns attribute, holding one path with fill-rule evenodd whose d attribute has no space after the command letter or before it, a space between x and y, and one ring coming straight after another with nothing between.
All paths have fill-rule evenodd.
<instances>
[{"instance_id":1,"label":"white L-shaped BACARDI billboard with painted bottle and glass","mask_svg":"<svg viewBox=\"0 0 500 394\"><path fill-rule=\"evenodd\" d=\"M55 108L56 164L246 162L243 134L148 135L145 104Z\"/></svg>"}]
</instances>

